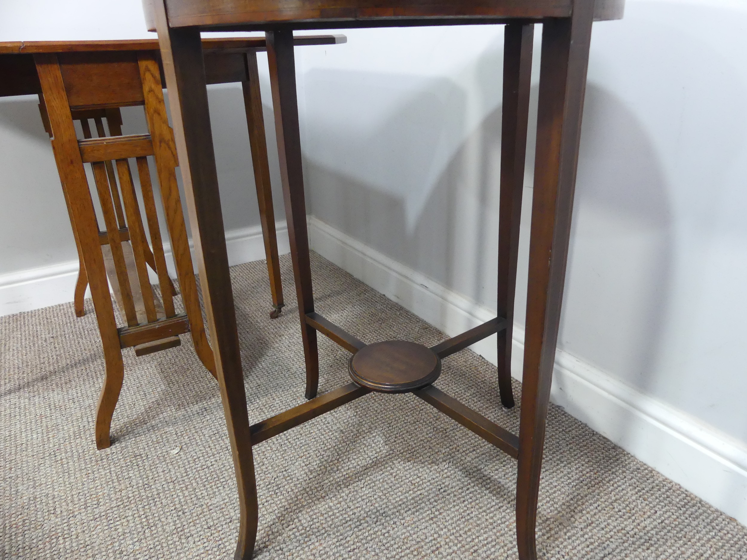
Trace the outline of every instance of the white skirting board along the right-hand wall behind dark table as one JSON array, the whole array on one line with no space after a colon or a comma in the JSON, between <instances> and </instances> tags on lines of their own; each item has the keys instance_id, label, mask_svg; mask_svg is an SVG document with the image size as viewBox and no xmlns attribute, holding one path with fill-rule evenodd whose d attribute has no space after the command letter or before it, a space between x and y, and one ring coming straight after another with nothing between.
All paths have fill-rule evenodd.
<instances>
[{"instance_id":1,"label":"white skirting board along the right-hand wall behind dark table","mask_svg":"<svg viewBox=\"0 0 747 560\"><path fill-rule=\"evenodd\" d=\"M447 335L495 317L433 279L309 218L311 248ZM472 346L493 364L495 336ZM512 373L521 379L524 329L515 326ZM747 525L747 445L652 399L568 352L555 358L551 399L596 432Z\"/></svg>"}]
</instances>

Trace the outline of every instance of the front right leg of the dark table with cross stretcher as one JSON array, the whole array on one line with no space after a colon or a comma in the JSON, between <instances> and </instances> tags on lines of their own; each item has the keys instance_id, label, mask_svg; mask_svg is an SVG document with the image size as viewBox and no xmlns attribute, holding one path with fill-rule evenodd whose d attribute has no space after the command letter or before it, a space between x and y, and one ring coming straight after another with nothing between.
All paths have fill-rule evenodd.
<instances>
[{"instance_id":1,"label":"front right leg of the dark table with cross stretcher","mask_svg":"<svg viewBox=\"0 0 747 560\"><path fill-rule=\"evenodd\" d=\"M593 1L542 28L537 147L521 390L516 532L519 559L535 560L545 421L560 325Z\"/></svg>"}]
</instances>

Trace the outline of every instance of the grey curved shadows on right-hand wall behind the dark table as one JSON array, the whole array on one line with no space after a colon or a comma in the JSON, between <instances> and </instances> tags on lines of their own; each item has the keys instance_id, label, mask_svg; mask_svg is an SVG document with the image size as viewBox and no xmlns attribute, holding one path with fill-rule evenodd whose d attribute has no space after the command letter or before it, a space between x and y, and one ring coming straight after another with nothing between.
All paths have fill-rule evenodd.
<instances>
[{"instance_id":1,"label":"grey curved shadows on right-hand wall behind the dark table","mask_svg":"<svg viewBox=\"0 0 747 560\"><path fill-rule=\"evenodd\" d=\"M500 69L501 57L494 52L481 60L479 74ZM392 82L408 89L412 84L401 82L411 79L315 70L306 87L310 106L315 99L339 97L352 99L352 110L396 95L387 87ZM311 208L320 220L394 261L495 308L501 108L486 113L453 146L468 110L466 94L446 79L421 86L368 128L360 125L366 116L360 128L350 124L347 102L341 109L335 105L338 114L327 120L309 119ZM500 99L500 92L481 93ZM536 108L530 121L536 122ZM603 369L618 372L622 365L623 375L628 370L651 376L672 266L663 170L641 123L594 84L587 88L583 130L560 346ZM530 150L534 139L530 134ZM516 299L521 323L531 204L524 198Z\"/></svg>"}]
</instances>

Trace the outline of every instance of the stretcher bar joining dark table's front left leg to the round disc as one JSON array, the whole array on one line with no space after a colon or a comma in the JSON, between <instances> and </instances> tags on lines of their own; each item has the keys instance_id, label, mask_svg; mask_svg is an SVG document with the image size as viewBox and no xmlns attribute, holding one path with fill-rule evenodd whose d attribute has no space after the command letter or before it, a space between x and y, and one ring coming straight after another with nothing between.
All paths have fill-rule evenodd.
<instances>
[{"instance_id":1,"label":"stretcher bar joining dark table's front left leg to the round disc","mask_svg":"<svg viewBox=\"0 0 747 560\"><path fill-rule=\"evenodd\" d=\"M371 393L371 391L367 388L360 387L355 383L348 383L334 391L329 391L329 393L324 393L310 401L304 402L303 405L298 405L285 412L276 414L276 416L267 418L267 420L252 424L252 445L260 444L262 441L270 439L275 435L287 432L291 428L300 426L312 418L335 410L335 408L368 393Z\"/></svg>"}]
</instances>

